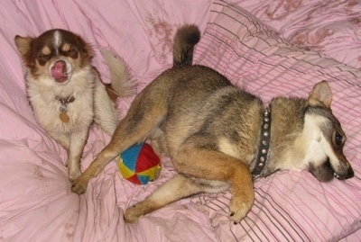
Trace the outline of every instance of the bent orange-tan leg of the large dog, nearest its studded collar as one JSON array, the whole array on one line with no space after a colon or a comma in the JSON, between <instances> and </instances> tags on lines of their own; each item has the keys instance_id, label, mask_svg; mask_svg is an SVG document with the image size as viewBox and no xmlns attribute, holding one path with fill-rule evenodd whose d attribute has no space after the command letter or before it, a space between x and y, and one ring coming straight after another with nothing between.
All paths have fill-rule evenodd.
<instances>
[{"instance_id":1,"label":"bent orange-tan leg of the large dog, nearest its studded collar","mask_svg":"<svg viewBox=\"0 0 361 242\"><path fill-rule=\"evenodd\" d=\"M251 209L255 197L252 174L241 160L215 150L196 148L189 143L172 157L172 163L180 173L230 184L229 214L235 222L244 219Z\"/></svg>"}]
</instances>

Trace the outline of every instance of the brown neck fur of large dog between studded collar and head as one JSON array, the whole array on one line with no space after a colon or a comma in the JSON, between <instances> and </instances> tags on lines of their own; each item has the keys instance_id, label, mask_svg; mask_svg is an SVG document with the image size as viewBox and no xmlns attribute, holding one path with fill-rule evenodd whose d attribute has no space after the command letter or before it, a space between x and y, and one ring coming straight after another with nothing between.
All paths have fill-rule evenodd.
<instances>
[{"instance_id":1,"label":"brown neck fur of large dog between studded collar and head","mask_svg":"<svg viewBox=\"0 0 361 242\"><path fill-rule=\"evenodd\" d=\"M297 150L290 147L302 132L306 106L307 100L301 98L277 97L271 102L269 156L261 176L271 175L284 167L282 164L290 157L298 158Z\"/></svg>"}]
</instances>

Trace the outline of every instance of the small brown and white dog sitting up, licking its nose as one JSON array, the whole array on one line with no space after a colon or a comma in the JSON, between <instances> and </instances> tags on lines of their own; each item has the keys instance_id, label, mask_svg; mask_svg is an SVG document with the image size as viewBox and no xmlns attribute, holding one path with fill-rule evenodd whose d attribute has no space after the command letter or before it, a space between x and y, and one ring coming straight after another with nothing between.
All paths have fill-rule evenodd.
<instances>
[{"instance_id":1,"label":"small brown and white dog sitting up, licking its nose","mask_svg":"<svg viewBox=\"0 0 361 242\"><path fill-rule=\"evenodd\" d=\"M54 29L39 37L14 38L26 67L26 93L35 120L68 151L69 180L80 172L80 158L95 121L109 135L118 124L117 95L133 94L134 81L121 58L104 51L112 84L104 85L91 66L94 51L78 34ZM113 97L112 99L107 94Z\"/></svg>"}]
</instances>

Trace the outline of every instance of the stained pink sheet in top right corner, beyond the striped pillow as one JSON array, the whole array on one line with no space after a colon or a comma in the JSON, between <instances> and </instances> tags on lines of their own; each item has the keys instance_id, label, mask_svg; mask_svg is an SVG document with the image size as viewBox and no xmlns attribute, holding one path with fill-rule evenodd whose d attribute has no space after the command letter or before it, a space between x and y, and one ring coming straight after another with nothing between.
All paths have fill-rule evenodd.
<instances>
[{"instance_id":1,"label":"stained pink sheet in top right corner, beyond the striped pillow","mask_svg":"<svg viewBox=\"0 0 361 242\"><path fill-rule=\"evenodd\" d=\"M361 4L355 0L235 1L282 38L361 67Z\"/></svg>"}]
</instances>

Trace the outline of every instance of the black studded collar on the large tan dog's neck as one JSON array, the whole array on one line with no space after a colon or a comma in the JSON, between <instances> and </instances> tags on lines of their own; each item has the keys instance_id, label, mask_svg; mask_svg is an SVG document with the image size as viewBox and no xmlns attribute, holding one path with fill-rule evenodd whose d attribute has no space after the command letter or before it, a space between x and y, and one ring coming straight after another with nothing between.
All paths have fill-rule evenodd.
<instances>
[{"instance_id":1,"label":"black studded collar on the large tan dog's neck","mask_svg":"<svg viewBox=\"0 0 361 242\"><path fill-rule=\"evenodd\" d=\"M261 138L258 148L258 155L255 160L255 168L252 171L254 179L262 177L264 168L267 166L268 157L270 155L270 141L271 141L271 110L267 107L264 109L264 116L261 126Z\"/></svg>"}]
</instances>

